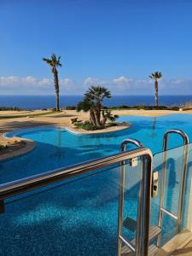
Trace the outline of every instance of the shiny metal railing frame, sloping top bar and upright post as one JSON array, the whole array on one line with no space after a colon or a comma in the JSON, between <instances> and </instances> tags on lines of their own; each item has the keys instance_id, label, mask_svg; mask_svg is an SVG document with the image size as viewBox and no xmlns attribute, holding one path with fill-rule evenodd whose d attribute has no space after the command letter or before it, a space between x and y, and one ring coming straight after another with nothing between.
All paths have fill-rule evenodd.
<instances>
[{"instance_id":1,"label":"shiny metal railing frame, sloping top bar and upright post","mask_svg":"<svg viewBox=\"0 0 192 256\"><path fill-rule=\"evenodd\" d=\"M55 171L44 172L32 177L23 178L14 182L0 185L0 207L4 210L4 200L31 191L39 189L50 183L66 180L70 177L77 177L87 172L94 172L103 167L113 164L125 164L125 160L132 160L141 157L143 160L143 175L139 193L138 224L137 224L137 247L133 249L137 256L148 256L148 232L150 223L150 201L151 201L151 183L152 183L152 161L153 154L148 148L137 148L130 151L124 151L119 154L113 154L98 160L90 160L80 165L61 168ZM5 209L6 210L6 209Z\"/></svg>"}]
</instances>

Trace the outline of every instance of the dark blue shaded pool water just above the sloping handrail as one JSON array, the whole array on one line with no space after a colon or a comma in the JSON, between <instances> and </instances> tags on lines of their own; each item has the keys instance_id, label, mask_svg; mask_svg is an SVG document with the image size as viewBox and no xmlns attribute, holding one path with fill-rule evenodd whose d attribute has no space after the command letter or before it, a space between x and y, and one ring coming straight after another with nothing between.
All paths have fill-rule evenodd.
<instances>
[{"instance_id":1,"label":"dark blue shaded pool water just above the sloping handrail","mask_svg":"<svg viewBox=\"0 0 192 256\"><path fill-rule=\"evenodd\" d=\"M112 148L113 145L109 145L109 147ZM57 147L49 143L37 143L37 148L32 152L13 160L0 162L0 183L71 166L102 156L103 154L99 150L94 152L87 150L86 152L84 148Z\"/></svg>"}]
</instances>

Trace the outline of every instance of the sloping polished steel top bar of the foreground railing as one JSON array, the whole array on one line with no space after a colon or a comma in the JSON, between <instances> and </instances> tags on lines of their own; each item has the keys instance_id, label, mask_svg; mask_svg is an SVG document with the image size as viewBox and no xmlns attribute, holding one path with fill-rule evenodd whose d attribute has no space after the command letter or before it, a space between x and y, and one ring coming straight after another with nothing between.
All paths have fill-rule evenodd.
<instances>
[{"instance_id":1,"label":"sloping polished steel top bar of the foreground railing","mask_svg":"<svg viewBox=\"0 0 192 256\"><path fill-rule=\"evenodd\" d=\"M151 154L151 151L148 148L137 148L122 153L113 154L97 160L86 161L78 165L60 168L54 171L44 172L31 177L22 178L13 182L3 183L0 185L0 200L25 193L32 189L39 189L49 185L50 183L55 183L70 177L76 177L86 172L95 171L102 167L106 167L145 154Z\"/></svg>"}]
</instances>

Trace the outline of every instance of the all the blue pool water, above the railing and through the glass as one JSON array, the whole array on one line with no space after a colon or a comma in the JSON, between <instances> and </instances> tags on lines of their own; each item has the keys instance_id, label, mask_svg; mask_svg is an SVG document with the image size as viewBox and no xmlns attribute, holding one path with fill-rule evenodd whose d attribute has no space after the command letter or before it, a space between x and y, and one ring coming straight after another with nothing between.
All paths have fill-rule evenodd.
<instances>
[{"instance_id":1,"label":"all the blue pool water, above the railing and through the glass","mask_svg":"<svg viewBox=\"0 0 192 256\"><path fill-rule=\"evenodd\" d=\"M117 153L119 144L127 137L137 138L153 153L161 151L163 134L171 128L183 129L192 141L191 115L129 116L119 120L131 122L131 128L89 136L55 127L20 131L17 136L34 140L36 148L1 162L1 183ZM169 147L181 143L179 137L172 135ZM0 218L0 254L115 255L118 183L119 169L113 166L108 172L7 201L6 212ZM137 214L137 193L135 185L125 195L126 214L131 218ZM152 211L158 212L156 208L154 202ZM156 218L154 213L152 222Z\"/></svg>"}]
</instances>

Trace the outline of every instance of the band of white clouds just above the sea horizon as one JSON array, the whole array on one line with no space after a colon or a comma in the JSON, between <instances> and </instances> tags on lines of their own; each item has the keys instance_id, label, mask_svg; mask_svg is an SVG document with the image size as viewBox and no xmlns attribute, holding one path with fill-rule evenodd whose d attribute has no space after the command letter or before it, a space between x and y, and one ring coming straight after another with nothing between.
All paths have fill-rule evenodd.
<instances>
[{"instance_id":1,"label":"band of white clouds just above the sea horizon","mask_svg":"<svg viewBox=\"0 0 192 256\"><path fill-rule=\"evenodd\" d=\"M131 79L119 76L113 79L99 79L88 77L76 82L73 79L60 79L60 90L63 95L83 95L90 85L101 84L108 87L112 95L152 95L154 81L151 79ZM191 94L191 79L160 79L159 91L161 95ZM53 79L38 79L33 76L0 77L0 93L9 95L50 95L54 94Z\"/></svg>"}]
</instances>

